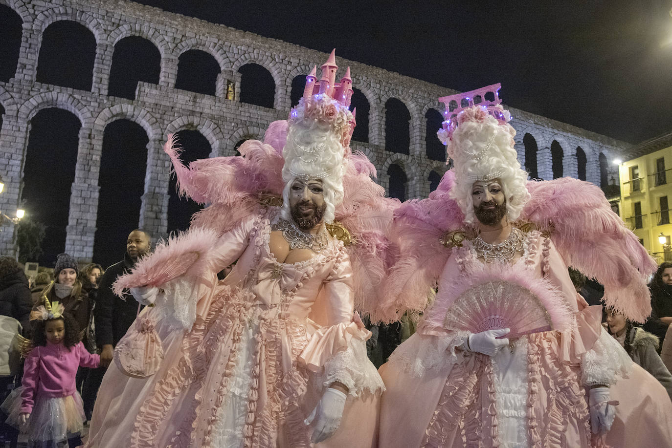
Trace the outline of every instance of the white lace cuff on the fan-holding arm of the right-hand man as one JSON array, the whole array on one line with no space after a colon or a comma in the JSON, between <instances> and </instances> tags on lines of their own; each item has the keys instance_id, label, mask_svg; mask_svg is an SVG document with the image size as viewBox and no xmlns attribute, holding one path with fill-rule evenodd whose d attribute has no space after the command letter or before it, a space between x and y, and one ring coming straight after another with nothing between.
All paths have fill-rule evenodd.
<instances>
[{"instance_id":1,"label":"white lace cuff on the fan-holding arm of the right-hand man","mask_svg":"<svg viewBox=\"0 0 672 448\"><path fill-rule=\"evenodd\" d=\"M457 362L456 347L462 345L468 331L452 331L443 336L415 333L390 356L390 364L422 377L427 371L440 370Z\"/></svg>"}]
</instances>

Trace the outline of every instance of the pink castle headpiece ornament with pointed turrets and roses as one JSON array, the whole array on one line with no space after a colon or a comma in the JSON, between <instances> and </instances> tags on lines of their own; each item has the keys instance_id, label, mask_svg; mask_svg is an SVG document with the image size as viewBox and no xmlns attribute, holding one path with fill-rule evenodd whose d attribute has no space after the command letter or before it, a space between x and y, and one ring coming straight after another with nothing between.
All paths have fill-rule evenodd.
<instances>
[{"instance_id":1,"label":"pink castle headpiece ornament with pointed turrets and roses","mask_svg":"<svg viewBox=\"0 0 672 448\"><path fill-rule=\"evenodd\" d=\"M302 120L317 120L329 124L332 132L339 136L339 141L347 148L352 138L352 132L357 126L355 111L348 107L352 98L352 79L350 67L345 71L341 82L336 82L335 49L329 54L327 62L322 64L322 77L317 80L317 66L306 76L306 87L303 97L296 107L290 111L288 122L292 124Z\"/></svg>"}]
</instances>

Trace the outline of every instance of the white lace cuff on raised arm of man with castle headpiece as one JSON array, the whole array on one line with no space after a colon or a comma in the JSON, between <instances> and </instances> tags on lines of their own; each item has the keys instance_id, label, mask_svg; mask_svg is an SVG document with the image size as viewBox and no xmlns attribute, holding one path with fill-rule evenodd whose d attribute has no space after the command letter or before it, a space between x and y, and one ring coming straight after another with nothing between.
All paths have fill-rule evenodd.
<instances>
[{"instance_id":1,"label":"white lace cuff on raised arm of man with castle headpiece","mask_svg":"<svg viewBox=\"0 0 672 448\"><path fill-rule=\"evenodd\" d=\"M179 277L161 286L156 304L161 319L172 328L191 330L196 322L198 287L189 277Z\"/></svg>"}]
</instances>

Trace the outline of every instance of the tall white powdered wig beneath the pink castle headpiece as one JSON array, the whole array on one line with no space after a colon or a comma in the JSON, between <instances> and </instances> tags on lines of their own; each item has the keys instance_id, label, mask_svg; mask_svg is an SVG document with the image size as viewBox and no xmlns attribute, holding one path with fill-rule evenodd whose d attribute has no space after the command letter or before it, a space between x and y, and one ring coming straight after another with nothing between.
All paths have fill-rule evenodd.
<instances>
[{"instance_id":1,"label":"tall white powdered wig beneath the pink castle headpiece","mask_svg":"<svg viewBox=\"0 0 672 448\"><path fill-rule=\"evenodd\" d=\"M339 136L329 124L311 118L290 122L287 142L282 150L285 187L280 216L283 219L292 219L289 195L294 180L319 179L327 204L324 221L328 224L333 222L335 208L343 201L344 152Z\"/></svg>"}]
</instances>

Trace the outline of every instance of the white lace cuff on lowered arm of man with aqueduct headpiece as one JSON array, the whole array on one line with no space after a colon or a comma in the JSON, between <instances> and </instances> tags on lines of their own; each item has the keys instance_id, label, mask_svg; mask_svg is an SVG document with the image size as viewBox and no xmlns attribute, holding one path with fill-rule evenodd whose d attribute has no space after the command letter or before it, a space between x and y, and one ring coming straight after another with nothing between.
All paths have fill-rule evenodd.
<instances>
[{"instance_id":1,"label":"white lace cuff on lowered arm of man with aqueduct headpiece","mask_svg":"<svg viewBox=\"0 0 672 448\"><path fill-rule=\"evenodd\" d=\"M593 348L581 359L581 381L585 386L612 386L618 378L630 377L631 369L628 353L602 328Z\"/></svg>"}]
</instances>

